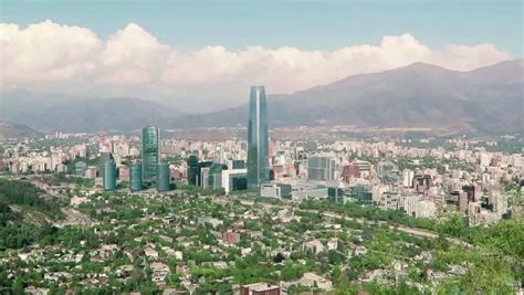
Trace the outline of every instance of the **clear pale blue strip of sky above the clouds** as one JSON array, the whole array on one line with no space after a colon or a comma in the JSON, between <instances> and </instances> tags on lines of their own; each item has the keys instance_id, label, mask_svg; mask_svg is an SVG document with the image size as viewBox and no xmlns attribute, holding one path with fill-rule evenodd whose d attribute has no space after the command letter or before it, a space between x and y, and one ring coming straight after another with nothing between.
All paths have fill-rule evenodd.
<instances>
[{"instance_id":1,"label":"clear pale blue strip of sky above the clouds","mask_svg":"<svg viewBox=\"0 0 524 295\"><path fill-rule=\"evenodd\" d=\"M45 19L104 39L135 22L182 50L334 50L404 33L437 49L489 42L515 57L523 50L521 1L1 1L2 22Z\"/></svg>"}]
</instances>

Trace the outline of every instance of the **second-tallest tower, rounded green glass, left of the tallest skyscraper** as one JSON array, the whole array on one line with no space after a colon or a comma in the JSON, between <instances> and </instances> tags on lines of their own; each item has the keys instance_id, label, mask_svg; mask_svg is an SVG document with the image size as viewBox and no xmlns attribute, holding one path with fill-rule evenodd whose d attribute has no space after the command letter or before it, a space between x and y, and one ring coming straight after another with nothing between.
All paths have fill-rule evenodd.
<instances>
[{"instance_id":1,"label":"second-tallest tower, rounded green glass, left of the tallest skyscraper","mask_svg":"<svg viewBox=\"0 0 524 295\"><path fill-rule=\"evenodd\" d=\"M157 179L160 162L160 131L156 126L142 129L142 177L146 185Z\"/></svg>"}]
</instances>

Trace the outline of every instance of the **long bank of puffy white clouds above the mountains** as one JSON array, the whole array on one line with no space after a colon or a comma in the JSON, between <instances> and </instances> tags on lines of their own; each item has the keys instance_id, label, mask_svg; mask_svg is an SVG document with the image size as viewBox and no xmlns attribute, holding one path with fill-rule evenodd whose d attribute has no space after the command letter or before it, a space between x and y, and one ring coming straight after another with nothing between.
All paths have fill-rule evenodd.
<instances>
[{"instance_id":1,"label":"long bank of puffy white clouds above the mountains","mask_svg":"<svg viewBox=\"0 0 524 295\"><path fill-rule=\"evenodd\" d=\"M90 29L49 20L28 28L0 24L0 46L2 88L60 92L57 85L75 85L76 91L96 88L107 95L175 99L205 95L209 107L220 105L217 98L228 97L228 103L245 98L235 96L248 93L251 84L264 84L269 93L289 93L419 61L468 71L511 59L493 44L433 50L410 34L335 51L207 46L179 52L135 23L101 40Z\"/></svg>"}]
</instances>

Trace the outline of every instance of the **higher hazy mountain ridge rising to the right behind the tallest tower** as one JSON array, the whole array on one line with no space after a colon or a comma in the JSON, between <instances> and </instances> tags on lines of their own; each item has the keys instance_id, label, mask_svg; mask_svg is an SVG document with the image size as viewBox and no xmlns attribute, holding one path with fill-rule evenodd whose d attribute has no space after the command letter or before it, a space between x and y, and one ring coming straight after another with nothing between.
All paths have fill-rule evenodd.
<instances>
[{"instance_id":1,"label":"higher hazy mountain ridge rising to the right behind the tallest tower","mask_svg":"<svg viewBox=\"0 0 524 295\"><path fill-rule=\"evenodd\" d=\"M291 95L268 96L269 122L271 126L322 124L444 127L488 133L523 130L523 61L470 72L415 63L349 76ZM232 126L245 125L247 120L245 104L203 116L186 116L176 125Z\"/></svg>"}]
</instances>

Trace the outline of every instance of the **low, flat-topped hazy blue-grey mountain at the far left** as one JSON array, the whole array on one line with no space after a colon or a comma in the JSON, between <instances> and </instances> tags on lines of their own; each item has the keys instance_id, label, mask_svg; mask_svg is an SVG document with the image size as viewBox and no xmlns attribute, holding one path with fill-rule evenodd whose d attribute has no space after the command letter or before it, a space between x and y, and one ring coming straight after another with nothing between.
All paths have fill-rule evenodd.
<instances>
[{"instance_id":1,"label":"low, flat-topped hazy blue-grey mountain at the far left","mask_svg":"<svg viewBox=\"0 0 524 295\"><path fill-rule=\"evenodd\" d=\"M66 98L30 93L2 95L0 119L42 131L134 130L148 124L167 127L180 113L138 98Z\"/></svg>"}]
</instances>

